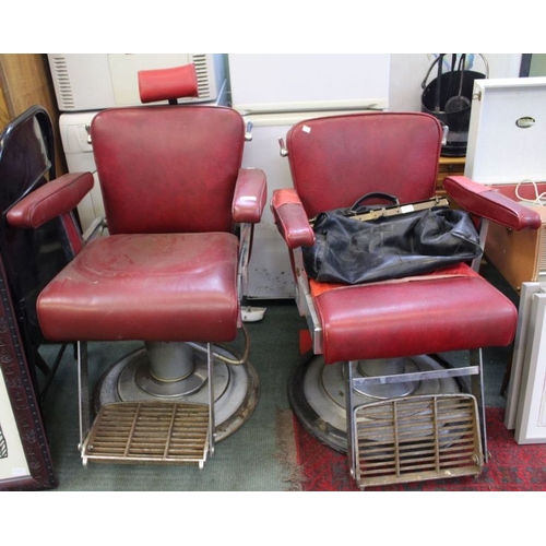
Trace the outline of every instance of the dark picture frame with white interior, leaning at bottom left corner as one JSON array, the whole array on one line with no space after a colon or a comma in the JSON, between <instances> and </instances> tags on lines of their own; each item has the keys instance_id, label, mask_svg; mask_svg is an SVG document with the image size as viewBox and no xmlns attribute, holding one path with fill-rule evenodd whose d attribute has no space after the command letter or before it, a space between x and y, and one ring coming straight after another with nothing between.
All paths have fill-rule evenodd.
<instances>
[{"instance_id":1,"label":"dark picture frame with white interior, leaning at bottom left corner","mask_svg":"<svg viewBox=\"0 0 546 546\"><path fill-rule=\"evenodd\" d=\"M1 257L0 370L0 490L52 489L58 479Z\"/></svg>"}]
</instances>

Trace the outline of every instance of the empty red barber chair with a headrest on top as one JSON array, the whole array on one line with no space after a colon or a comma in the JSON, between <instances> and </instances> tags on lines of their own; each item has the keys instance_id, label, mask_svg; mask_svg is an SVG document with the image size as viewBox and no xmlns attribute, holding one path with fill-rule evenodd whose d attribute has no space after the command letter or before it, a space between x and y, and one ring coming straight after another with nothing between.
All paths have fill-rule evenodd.
<instances>
[{"instance_id":1,"label":"empty red barber chair with a headrest on top","mask_svg":"<svg viewBox=\"0 0 546 546\"><path fill-rule=\"evenodd\" d=\"M188 95L191 74L182 71L179 85L159 79L163 93L144 85L143 102L175 103L181 90ZM106 230L81 242L37 300L46 339L78 342L84 463L203 466L258 403L240 299L266 186L263 171L241 168L245 133L238 112L216 106L114 108L93 119ZM75 207L92 180L46 183L8 221L33 229ZM224 344L241 331L239 357ZM114 366L111 400L103 384L92 404L87 342L123 340L144 343Z\"/></svg>"}]
</instances>

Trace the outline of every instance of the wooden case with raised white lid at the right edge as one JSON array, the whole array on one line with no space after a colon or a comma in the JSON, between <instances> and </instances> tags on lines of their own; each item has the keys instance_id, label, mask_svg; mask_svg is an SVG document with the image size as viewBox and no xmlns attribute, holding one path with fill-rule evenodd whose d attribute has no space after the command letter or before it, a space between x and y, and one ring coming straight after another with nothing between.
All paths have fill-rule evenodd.
<instances>
[{"instance_id":1,"label":"wooden case with raised white lid at the right edge","mask_svg":"<svg viewBox=\"0 0 546 546\"><path fill-rule=\"evenodd\" d=\"M546 280L545 146L546 78L475 82L464 174L543 217L539 229L489 225L486 258L518 292L524 282Z\"/></svg>"}]
</instances>

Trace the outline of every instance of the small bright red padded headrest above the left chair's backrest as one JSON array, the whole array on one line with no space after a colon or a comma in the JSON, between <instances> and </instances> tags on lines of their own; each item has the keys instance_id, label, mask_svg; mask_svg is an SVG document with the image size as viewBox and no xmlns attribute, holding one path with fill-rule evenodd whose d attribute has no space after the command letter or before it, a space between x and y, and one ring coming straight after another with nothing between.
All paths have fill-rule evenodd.
<instances>
[{"instance_id":1,"label":"small bright red padded headrest above the left chair's backrest","mask_svg":"<svg viewBox=\"0 0 546 546\"><path fill-rule=\"evenodd\" d=\"M194 64L169 69L140 70L138 76L142 103L199 96Z\"/></svg>"}]
</instances>

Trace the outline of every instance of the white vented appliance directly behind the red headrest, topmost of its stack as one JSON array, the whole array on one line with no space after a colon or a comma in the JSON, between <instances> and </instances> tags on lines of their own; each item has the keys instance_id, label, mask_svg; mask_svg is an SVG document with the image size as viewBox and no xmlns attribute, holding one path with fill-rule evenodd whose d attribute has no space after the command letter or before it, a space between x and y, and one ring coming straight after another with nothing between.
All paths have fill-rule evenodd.
<instances>
[{"instance_id":1,"label":"white vented appliance directly behind the red headrest, topmost of its stack","mask_svg":"<svg viewBox=\"0 0 546 546\"><path fill-rule=\"evenodd\" d=\"M138 72L193 63L199 96L218 100L227 92L225 54L47 54L61 111L140 105ZM182 102L180 100L180 102Z\"/></svg>"}]
</instances>

